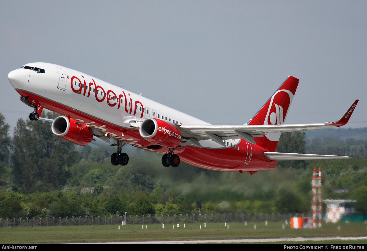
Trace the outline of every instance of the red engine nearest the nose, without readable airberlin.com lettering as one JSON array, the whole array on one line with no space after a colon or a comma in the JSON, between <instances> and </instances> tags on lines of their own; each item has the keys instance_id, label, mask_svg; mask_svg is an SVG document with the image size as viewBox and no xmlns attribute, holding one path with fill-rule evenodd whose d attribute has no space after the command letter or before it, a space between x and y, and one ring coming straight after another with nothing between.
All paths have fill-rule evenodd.
<instances>
[{"instance_id":1,"label":"red engine nearest the nose, without readable airberlin.com lettering","mask_svg":"<svg viewBox=\"0 0 367 251\"><path fill-rule=\"evenodd\" d=\"M77 145L88 145L93 139L93 132L86 124L65 116L55 118L52 132L63 140Z\"/></svg>"}]
</instances>

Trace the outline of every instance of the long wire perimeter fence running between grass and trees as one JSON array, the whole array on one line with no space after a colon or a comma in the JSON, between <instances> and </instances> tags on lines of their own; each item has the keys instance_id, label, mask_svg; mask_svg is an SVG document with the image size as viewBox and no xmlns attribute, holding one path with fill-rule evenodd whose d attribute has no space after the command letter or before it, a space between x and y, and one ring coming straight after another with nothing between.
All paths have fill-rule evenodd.
<instances>
[{"instance_id":1,"label":"long wire perimeter fence running between grass and trees","mask_svg":"<svg viewBox=\"0 0 367 251\"><path fill-rule=\"evenodd\" d=\"M121 224L180 224L204 222L277 222L291 217L310 217L310 214L143 214L143 215L97 215L71 217L19 217L0 218L0 227L7 226L81 226ZM125 218L126 217L126 218Z\"/></svg>"}]
</instances>

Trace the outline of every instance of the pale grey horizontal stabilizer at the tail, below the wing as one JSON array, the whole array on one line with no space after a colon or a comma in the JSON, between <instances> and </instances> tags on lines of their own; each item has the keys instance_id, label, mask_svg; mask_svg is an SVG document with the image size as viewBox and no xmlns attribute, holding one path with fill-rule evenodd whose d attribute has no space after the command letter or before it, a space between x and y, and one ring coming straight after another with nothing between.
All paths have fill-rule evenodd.
<instances>
[{"instance_id":1,"label":"pale grey horizontal stabilizer at the tail, below the wing","mask_svg":"<svg viewBox=\"0 0 367 251\"><path fill-rule=\"evenodd\" d=\"M302 160L302 159L352 159L349 156L320 155L320 154L292 154L289 152L264 152L270 160Z\"/></svg>"}]
</instances>

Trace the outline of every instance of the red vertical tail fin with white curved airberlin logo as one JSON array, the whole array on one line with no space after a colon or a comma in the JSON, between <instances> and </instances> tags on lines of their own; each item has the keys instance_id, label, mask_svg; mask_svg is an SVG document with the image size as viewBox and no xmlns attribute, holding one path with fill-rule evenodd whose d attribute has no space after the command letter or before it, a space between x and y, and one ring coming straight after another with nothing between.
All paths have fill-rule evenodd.
<instances>
[{"instance_id":1,"label":"red vertical tail fin with white curved airberlin logo","mask_svg":"<svg viewBox=\"0 0 367 251\"><path fill-rule=\"evenodd\" d=\"M289 76L264 106L250 120L248 125L282 125L287 118L289 107L296 92L299 79ZM263 137L254 138L257 145L267 151L274 152L280 133L269 133Z\"/></svg>"}]
</instances>

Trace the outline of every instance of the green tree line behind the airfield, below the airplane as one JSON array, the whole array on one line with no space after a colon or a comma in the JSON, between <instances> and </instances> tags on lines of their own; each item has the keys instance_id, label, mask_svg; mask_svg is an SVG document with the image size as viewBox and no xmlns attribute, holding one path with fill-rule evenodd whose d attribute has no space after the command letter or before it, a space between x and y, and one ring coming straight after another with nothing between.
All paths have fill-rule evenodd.
<instances>
[{"instance_id":1,"label":"green tree line behind the airfield, below the airplane","mask_svg":"<svg viewBox=\"0 0 367 251\"><path fill-rule=\"evenodd\" d=\"M185 163L163 167L161 155L127 146L134 161L112 166L115 148L76 148L54 136L48 122L19 119L13 137L9 129L0 114L0 217L308 213L312 170L318 166L323 198L358 199L358 211L367 211L365 158L283 161L250 176ZM304 153L306 148L305 133L283 133L277 151ZM335 192L338 188L348 193Z\"/></svg>"}]
</instances>

